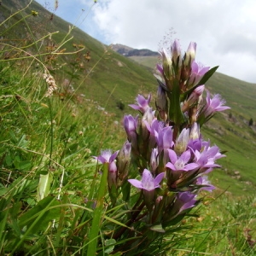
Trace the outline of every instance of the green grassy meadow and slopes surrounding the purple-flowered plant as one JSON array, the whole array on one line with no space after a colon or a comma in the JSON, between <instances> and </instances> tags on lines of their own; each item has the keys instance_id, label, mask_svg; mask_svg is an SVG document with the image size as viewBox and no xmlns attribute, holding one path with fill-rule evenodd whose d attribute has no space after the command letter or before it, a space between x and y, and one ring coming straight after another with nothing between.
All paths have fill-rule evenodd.
<instances>
[{"instance_id":1,"label":"green grassy meadow and slopes surrounding the purple-flowered plant","mask_svg":"<svg viewBox=\"0 0 256 256\"><path fill-rule=\"evenodd\" d=\"M107 195L90 254L101 190L92 156L121 148L137 94L152 93L154 107L157 60L125 58L35 1L1 9L0 255L135 255L112 236L128 208L109 208ZM58 87L49 97L45 73ZM256 255L256 84L215 73L206 87L231 108L201 127L226 155L210 174L216 190L152 255Z\"/></svg>"}]
</instances>

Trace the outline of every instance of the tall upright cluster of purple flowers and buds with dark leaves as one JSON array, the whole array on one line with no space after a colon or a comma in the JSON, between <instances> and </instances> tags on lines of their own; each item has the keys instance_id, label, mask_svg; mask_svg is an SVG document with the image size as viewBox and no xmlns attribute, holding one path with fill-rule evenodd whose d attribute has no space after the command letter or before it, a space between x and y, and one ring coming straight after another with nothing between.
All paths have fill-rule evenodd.
<instances>
[{"instance_id":1,"label":"tall upright cluster of purple flowers and buds with dark leaves","mask_svg":"<svg viewBox=\"0 0 256 256\"><path fill-rule=\"evenodd\" d=\"M224 157L216 145L203 139L200 128L229 107L219 95L211 98L208 90L204 98L205 83L217 67L196 62L195 51L196 44L190 43L182 55L177 40L170 55L163 49L162 65L157 65L155 75L159 84L156 110L149 106L150 94L137 96L137 103L130 107L139 114L124 117L127 142L109 157L108 187L121 187L126 201L130 198L127 183L139 189L143 203L135 204L131 218L146 214L151 230L155 224L163 228L176 224L199 203L202 189L212 191L207 173L219 167L216 160ZM102 163L104 159L103 154L98 157ZM138 175L141 178L136 179Z\"/></svg>"}]
</instances>

